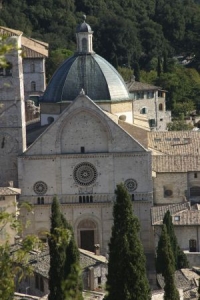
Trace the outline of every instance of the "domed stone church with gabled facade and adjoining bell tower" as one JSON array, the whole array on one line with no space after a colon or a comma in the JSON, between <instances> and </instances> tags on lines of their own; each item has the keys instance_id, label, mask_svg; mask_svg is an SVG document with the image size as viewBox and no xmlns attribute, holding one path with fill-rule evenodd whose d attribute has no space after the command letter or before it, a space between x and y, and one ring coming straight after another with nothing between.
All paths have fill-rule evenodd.
<instances>
[{"instance_id":1,"label":"domed stone church with gabled facade and adjoining bell tower","mask_svg":"<svg viewBox=\"0 0 200 300\"><path fill-rule=\"evenodd\" d=\"M20 201L34 205L34 214L21 215L24 222L31 222L25 234L37 233L45 239L56 194L78 246L93 251L94 244L100 244L101 253L106 254L114 190L124 182L141 221L145 251L152 252L151 153L119 125L121 115L133 120L133 101L118 72L94 53L93 32L85 21L78 26L76 37L77 52L57 70L41 99L41 126L32 128L34 137L28 149L22 57L13 52L18 64L12 64L10 78L2 78L5 82L11 79L16 89L4 85L1 96L8 109L0 114L0 163L4 168L0 184L6 186L12 180L22 189ZM15 39L20 48L21 35ZM11 125L12 109L19 123Z\"/></svg>"}]
</instances>

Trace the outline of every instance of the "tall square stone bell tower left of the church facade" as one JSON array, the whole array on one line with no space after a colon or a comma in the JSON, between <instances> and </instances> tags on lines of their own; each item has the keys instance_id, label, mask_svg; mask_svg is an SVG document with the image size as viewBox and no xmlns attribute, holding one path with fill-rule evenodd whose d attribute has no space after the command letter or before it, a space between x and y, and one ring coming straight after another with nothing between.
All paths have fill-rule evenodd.
<instances>
[{"instance_id":1,"label":"tall square stone bell tower left of the church facade","mask_svg":"<svg viewBox=\"0 0 200 300\"><path fill-rule=\"evenodd\" d=\"M0 186L18 186L17 156L26 149L21 36L8 37L12 50L0 68Z\"/></svg>"}]
</instances>

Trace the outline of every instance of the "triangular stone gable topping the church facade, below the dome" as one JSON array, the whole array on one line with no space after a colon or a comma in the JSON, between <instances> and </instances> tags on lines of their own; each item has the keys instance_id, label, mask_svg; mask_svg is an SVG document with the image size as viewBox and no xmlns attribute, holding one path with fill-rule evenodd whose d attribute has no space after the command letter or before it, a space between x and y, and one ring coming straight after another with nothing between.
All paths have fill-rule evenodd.
<instances>
[{"instance_id":1,"label":"triangular stone gable topping the church facade, below the dome","mask_svg":"<svg viewBox=\"0 0 200 300\"><path fill-rule=\"evenodd\" d=\"M44 154L61 154L62 151L59 148L60 143L63 140L63 134L68 134L69 131L73 131L73 137L77 134L81 134L81 124L78 129L71 128L70 124L73 123L77 114L85 112L88 114L88 120L90 118L96 119L99 126L102 126L102 131L108 136L109 149L107 152L146 152L147 150L132 136L130 136L124 129L116 124L104 111L97 106L86 95L79 95L71 105L69 105L54 121L39 138L27 149L24 155L44 155ZM90 120L89 120L90 121ZM81 122L81 121L80 121ZM92 131L91 136L95 137L95 131ZM103 133L103 134L104 134ZM78 138L78 135L77 135ZM98 152L98 151L94 151ZM101 152L101 151L100 151ZM105 151L106 152L106 151Z\"/></svg>"}]
</instances>

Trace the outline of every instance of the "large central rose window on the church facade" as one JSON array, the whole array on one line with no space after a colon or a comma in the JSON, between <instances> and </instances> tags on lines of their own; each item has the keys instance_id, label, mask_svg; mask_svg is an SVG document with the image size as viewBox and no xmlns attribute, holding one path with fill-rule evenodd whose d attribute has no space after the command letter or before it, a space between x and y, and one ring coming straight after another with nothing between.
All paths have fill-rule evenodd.
<instances>
[{"instance_id":1,"label":"large central rose window on the church facade","mask_svg":"<svg viewBox=\"0 0 200 300\"><path fill-rule=\"evenodd\" d=\"M91 163L80 163L74 168L73 178L78 185L89 186L96 182L97 170Z\"/></svg>"}]
</instances>

